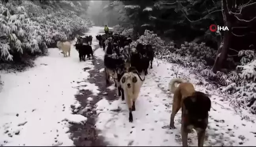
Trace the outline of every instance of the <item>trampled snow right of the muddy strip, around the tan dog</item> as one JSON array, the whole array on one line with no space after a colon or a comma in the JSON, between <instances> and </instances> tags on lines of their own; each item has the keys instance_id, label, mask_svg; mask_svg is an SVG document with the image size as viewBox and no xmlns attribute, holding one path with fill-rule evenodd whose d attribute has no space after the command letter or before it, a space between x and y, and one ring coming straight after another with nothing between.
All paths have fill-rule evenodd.
<instances>
[{"instance_id":1,"label":"trampled snow right of the muddy strip, around the tan dog","mask_svg":"<svg viewBox=\"0 0 256 147\"><path fill-rule=\"evenodd\" d=\"M103 60L104 51L96 50L95 55ZM184 67L156 59L153 61L153 69L149 69L149 75L141 87L139 99L136 101L136 111L133 112L133 123L128 121L125 101L119 99L109 102L104 98L97 103L96 128L101 131L100 135L104 136L105 141L113 146L182 145L181 110L175 116L177 128L168 128L173 94L167 89L169 80L176 76L192 82L196 90L209 94L212 101L205 146L254 145L254 115L245 112L244 116L236 114L229 103L223 102L226 97L213 90L213 86L199 74L192 74ZM112 89L112 86L108 88ZM246 116L250 119L245 119ZM196 132L188 134L188 138L190 146L198 145Z\"/></svg>"}]
</instances>

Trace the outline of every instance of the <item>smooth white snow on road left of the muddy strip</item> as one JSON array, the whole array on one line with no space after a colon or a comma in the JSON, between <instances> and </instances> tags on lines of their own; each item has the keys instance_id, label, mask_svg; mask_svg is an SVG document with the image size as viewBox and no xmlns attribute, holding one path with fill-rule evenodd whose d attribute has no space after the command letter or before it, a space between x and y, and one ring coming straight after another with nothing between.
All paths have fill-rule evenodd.
<instances>
[{"instance_id":1,"label":"smooth white snow on road left of the muddy strip","mask_svg":"<svg viewBox=\"0 0 256 147\"><path fill-rule=\"evenodd\" d=\"M94 95L99 91L95 84L81 82L89 77L83 69L92 69L92 61L80 62L73 45L70 57L60 52L49 48L49 56L38 58L34 68L22 73L1 71L0 145L73 146L69 123L87 121L72 114L71 107L74 111L81 107L74 95L80 89Z\"/></svg>"}]
</instances>

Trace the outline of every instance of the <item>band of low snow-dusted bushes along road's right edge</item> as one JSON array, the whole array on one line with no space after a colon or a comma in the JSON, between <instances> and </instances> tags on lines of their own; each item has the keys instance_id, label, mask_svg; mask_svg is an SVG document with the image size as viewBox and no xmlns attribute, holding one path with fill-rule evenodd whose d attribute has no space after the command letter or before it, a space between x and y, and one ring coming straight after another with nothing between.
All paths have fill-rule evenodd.
<instances>
[{"instance_id":1,"label":"band of low snow-dusted bushes along road's right edge","mask_svg":"<svg viewBox=\"0 0 256 147\"><path fill-rule=\"evenodd\" d=\"M200 72L202 76L223 85L220 92L232 95L231 104L234 108L247 108L256 114L256 54L253 50L241 50L240 64L236 70L228 74L213 73L207 66L207 61L214 61L216 50L205 47L205 43L187 43L181 48L175 48L173 42L169 42L162 51L158 52L158 58L171 63L178 63L184 67L190 67Z\"/></svg>"}]
</instances>

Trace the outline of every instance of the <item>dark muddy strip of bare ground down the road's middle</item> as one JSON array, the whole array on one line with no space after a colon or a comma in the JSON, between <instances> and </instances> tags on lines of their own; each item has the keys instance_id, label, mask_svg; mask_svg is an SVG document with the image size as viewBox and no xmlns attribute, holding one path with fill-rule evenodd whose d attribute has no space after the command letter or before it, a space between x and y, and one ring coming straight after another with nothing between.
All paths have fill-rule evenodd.
<instances>
[{"instance_id":1,"label":"dark muddy strip of bare ground down the road's middle","mask_svg":"<svg viewBox=\"0 0 256 147\"><path fill-rule=\"evenodd\" d=\"M99 48L98 45L95 47L95 50L102 49ZM95 51L94 50L94 51ZM99 87L100 93L95 96L92 95L92 92L89 90L81 90L79 91L78 95L75 95L76 99L81 103L81 107L79 111L73 111L74 114L81 114L87 117L87 121L85 124L73 124L70 127L70 132L72 133L71 139L74 141L76 146L106 146L107 143L104 142L104 138L102 136L98 136L98 131L96 130L95 123L96 123L96 108L95 104L103 99L106 98L107 100L116 100L119 97L115 97L116 91L108 89L108 86L111 84L106 85L105 83L105 74L102 69L104 68L103 60L98 58L94 58L92 60L94 65L94 69L90 70L90 78L88 78L86 82L90 82L95 84ZM85 70L88 70L88 67L85 67ZM88 101L87 98L91 97L92 100ZM73 108L75 110L75 108Z\"/></svg>"}]
</instances>

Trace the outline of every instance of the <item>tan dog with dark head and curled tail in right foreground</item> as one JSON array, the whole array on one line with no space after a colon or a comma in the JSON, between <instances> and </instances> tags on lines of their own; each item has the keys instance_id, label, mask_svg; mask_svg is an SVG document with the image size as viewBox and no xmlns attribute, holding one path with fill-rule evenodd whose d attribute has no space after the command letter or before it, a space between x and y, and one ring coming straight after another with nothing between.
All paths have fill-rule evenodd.
<instances>
[{"instance_id":1,"label":"tan dog with dark head and curled tail in right foreground","mask_svg":"<svg viewBox=\"0 0 256 147\"><path fill-rule=\"evenodd\" d=\"M179 86L175 87L175 83L179 84ZM180 78L173 78L169 82L169 90L174 94L170 128L175 128L174 117L182 108L182 145L188 146L188 133L193 132L192 129L194 128L198 134L198 146L203 146L211 100L205 93L196 91L192 83Z\"/></svg>"}]
</instances>

